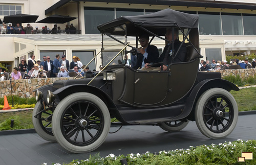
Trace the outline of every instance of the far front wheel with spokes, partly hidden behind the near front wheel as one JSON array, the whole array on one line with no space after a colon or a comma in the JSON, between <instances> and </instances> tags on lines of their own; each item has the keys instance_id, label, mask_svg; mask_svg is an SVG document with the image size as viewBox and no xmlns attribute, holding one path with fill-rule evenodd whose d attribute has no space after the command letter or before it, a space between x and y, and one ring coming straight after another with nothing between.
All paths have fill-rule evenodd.
<instances>
[{"instance_id":1,"label":"far front wheel with spokes, partly hidden behind the near front wheel","mask_svg":"<svg viewBox=\"0 0 256 165\"><path fill-rule=\"evenodd\" d=\"M56 142L51 128L52 111L44 110L40 102L37 102L35 105L32 114L32 122L39 136L50 142Z\"/></svg>"}]
</instances>

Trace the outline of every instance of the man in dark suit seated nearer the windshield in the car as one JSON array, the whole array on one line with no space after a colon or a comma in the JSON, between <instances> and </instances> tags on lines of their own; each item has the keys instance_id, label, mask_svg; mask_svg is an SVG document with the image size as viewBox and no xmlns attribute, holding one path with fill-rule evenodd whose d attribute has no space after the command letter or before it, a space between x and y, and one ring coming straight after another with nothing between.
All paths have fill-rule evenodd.
<instances>
[{"instance_id":1,"label":"man in dark suit seated nearer the windshield in the car","mask_svg":"<svg viewBox=\"0 0 256 165\"><path fill-rule=\"evenodd\" d=\"M138 48L137 62L134 69L142 68L141 70L153 70L153 68L148 67L148 64L153 64L158 62L159 52L155 45L148 44L150 37L147 34L142 34L139 36L139 42L142 47Z\"/></svg>"}]
</instances>

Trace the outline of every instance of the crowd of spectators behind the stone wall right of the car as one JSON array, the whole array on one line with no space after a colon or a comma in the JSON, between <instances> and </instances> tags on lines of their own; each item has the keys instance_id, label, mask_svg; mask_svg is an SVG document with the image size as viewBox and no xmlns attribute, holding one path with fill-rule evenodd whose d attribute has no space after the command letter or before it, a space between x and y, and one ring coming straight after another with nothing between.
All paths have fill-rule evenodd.
<instances>
[{"instance_id":1,"label":"crowd of spectators behind the stone wall right of the car","mask_svg":"<svg viewBox=\"0 0 256 165\"><path fill-rule=\"evenodd\" d=\"M199 63L198 70L199 71L205 71L205 70L222 70L222 69L228 69L230 66L238 65L243 69L246 68L255 68L256 66L256 60L252 59L252 63L248 61L248 59L245 60L238 60L238 59L231 59L229 64L227 64L227 61L216 61L212 60L210 63L209 60L204 61L201 60L201 63Z\"/></svg>"}]
</instances>

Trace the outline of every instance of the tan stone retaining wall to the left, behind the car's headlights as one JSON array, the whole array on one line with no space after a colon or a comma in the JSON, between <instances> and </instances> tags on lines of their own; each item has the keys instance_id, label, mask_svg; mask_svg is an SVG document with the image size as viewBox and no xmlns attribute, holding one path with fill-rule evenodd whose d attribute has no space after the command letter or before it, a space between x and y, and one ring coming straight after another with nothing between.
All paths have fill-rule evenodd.
<instances>
[{"instance_id":1,"label":"tan stone retaining wall to the left, behind the car's headlights","mask_svg":"<svg viewBox=\"0 0 256 165\"><path fill-rule=\"evenodd\" d=\"M32 98L35 97L34 89L37 89L44 85L53 84L56 80L72 80L75 77L70 78L38 78L38 79L22 79L12 81L12 93L21 98ZM11 95L11 84L9 80L0 81L0 97Z\"/></svg>"}]
</instances>

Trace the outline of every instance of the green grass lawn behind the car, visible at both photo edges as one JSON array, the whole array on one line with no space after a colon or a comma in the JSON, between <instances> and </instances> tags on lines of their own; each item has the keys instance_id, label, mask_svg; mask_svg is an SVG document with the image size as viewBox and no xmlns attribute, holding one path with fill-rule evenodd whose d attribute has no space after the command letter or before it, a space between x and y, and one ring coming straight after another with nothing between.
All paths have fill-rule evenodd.
<instances>
[{"instance_id":1,"label":"green grass lawn behind the car, visible at both photo edges","mask_svg":"<svg viewBox=\"0 0 256 165\"><path fill-rule=\"evenodd\" d=\"M256 87L244 88L239 91L231 90L230 93L236 99L239 111L256 110ZM0 113L0 123L12 115L18 115L22 127L33 128L32 112L33 110Z\"/></svg>"}]
</instances>

